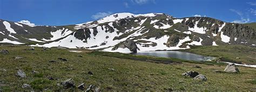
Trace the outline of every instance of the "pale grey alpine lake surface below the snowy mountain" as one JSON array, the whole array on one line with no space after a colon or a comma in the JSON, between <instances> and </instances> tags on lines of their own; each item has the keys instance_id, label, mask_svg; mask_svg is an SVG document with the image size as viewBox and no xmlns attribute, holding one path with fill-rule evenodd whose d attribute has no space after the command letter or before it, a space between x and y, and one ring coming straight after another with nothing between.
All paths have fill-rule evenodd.
<instances>
[{"instance_id":1,"label":"pale grey alpine lake surface below the snowy mountain","mask_svg":"<svg viewBox=\"0 0 256 92\"><path fill-rule=\"evenodd\" d=\"M152 51L152 52L138 52L132 53L135 55L151 55L165 58L178 58L184 60L193 60L193 61L203 61L203 55L197 55L188 52L179 52L179 51Z\"/></svg>"}]
</instances>

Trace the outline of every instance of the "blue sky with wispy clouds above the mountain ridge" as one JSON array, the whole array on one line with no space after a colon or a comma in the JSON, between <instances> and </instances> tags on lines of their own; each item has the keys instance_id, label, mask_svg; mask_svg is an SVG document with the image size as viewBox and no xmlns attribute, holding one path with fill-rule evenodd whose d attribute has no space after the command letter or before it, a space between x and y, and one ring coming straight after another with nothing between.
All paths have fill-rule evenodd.
<instances>
[{"instance_id":1,"label":"blue sky with wispy clouds above the mountain ridge","mask_svg":"<svg viewBox=\"0 0 256 92\"><path fill-rule=\"evenodd\" d=\"M207 16L225 22L256 22L256 0L0 0L0 19L36 25L69 25L120 12Z\"/></svg>"}]
</instances>

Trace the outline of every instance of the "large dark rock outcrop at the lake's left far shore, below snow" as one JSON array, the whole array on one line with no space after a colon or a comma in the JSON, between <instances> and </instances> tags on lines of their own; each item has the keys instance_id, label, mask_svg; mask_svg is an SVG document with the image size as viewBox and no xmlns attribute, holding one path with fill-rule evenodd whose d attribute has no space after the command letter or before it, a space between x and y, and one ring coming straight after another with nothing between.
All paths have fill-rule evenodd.
<instances>
[{"instance_id":1,"label":"large dark rock outcrop at the lake's left far shore, below snow","mask_svg":"<svg viewBox=\"0 0 256 92\"><path fill-rule=\"evenodd\" d=\"M112 50L116 50L118 49L118 47L120 48L129 48L131 52L136 53L137 52L137 45L133 40L130 39L126 39L125 41L123 41L122 43L120 43L118 46L114 47Z\"/></svg>"}]
</instances>

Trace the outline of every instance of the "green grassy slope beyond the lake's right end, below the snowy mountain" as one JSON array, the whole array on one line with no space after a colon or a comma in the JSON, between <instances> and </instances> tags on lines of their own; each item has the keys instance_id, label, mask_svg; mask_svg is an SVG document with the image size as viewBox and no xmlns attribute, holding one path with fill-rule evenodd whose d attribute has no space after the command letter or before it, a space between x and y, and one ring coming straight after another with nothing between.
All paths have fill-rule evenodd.
<instances>
[{"instance_id":1,"label":"green grassy slope beyond the lake's right end, below the snowy mountain","mask_svg":"<svg viewBox=\"0 0 256 92\"><path fill-rule=\"evenodd\" d=\"M192 46L191 49L185 51L196 53L204 56L220 57L222 61L247 63L256 65L256 48L241 46L241 45L226 45L226 46ZM239 57L240 59L236 59Z\"/></svg>"}]
</instances>

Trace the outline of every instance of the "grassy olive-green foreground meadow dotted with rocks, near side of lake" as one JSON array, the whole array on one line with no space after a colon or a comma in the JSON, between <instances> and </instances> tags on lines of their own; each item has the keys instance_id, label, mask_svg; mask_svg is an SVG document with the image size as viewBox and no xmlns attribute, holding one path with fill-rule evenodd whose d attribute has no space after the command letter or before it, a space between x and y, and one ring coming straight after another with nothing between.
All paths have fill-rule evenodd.
<instances>
[{"instance_id":1,"label":"grassy olive-green foreground meadow dotted with rocks, near side of lake","mask_svg":"<svg viewBox=\"0 0 256 92\"><path fill-rule=\"evenodd\" d=\"M188 62L173 62L168 65L119 59L91 53L69 52L69 49L51 48L41 51L24 50L26 46L0 46L8 49L9 54L0 54L0 90L63 90L57 86L66 79L73 79L76 86L85 83L85 87L94 84L100 90L251 90L256 91L256 69L238 67L240 73L215 73L213 70L224 70L225 65L206 65ZM82 55L79 57L77 55ZM21 56L23 59L14 59ZM65 58L61 61L57 58ZM56 60L51 63L49 60ZM202 68L196 68L200 66ZM109 68L113 68L109 69ZM4 71L3 69L6 69ZM24 70L27 77L15 76L18 69ZM31 74L35 70L39 74ZM188 70L194 70L207 76L207 81L193 80L181 76ZM87 74L91 71L93 75ZM53 77L49 80L48 77ZM22 84L27 83L32 88L23 89ZM69 90L78 90L77 88Z\"/></svg>"}]
</instances>

